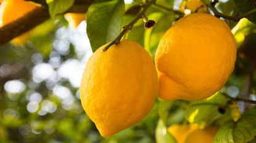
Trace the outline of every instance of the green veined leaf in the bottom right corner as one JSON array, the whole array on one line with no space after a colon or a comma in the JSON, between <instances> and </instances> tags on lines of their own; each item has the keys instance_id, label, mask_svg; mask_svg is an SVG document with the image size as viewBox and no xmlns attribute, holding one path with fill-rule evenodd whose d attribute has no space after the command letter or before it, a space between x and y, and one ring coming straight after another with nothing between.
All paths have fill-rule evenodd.
<instances>
[{"instance_id":1,"label":"green veined leaf in the bottom right corner","mask_svg":"<svg viewBox=\"0 0 256 143\"><path fill-rule=\"evenodd\" d=\"M219 129L214 143L244 143L256 135L256 109L247 110L238 122L230 120Z\"/></svg>"}]
</instances>

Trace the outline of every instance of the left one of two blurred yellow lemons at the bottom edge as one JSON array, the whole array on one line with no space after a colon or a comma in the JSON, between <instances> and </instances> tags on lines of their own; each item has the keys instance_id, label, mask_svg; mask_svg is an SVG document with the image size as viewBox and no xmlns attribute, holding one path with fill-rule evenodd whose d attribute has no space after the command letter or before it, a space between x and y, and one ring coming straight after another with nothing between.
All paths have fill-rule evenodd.
<instances>
[{"instance_id":1,"label":"left one of two blurred yellow lemons at the bottom edge","mask_svg":"<svg viewBox=\"0 0 256 143\"><path fill-rule=\"evenodd\" d=\"M183 143L184 139L188 134L190 134L192 131L198 129L197 124L191 124L191 125L171 125L168 128L168 131L171 133L173 137L175 137L177 143Z\"/></svg>"}]
</instances>

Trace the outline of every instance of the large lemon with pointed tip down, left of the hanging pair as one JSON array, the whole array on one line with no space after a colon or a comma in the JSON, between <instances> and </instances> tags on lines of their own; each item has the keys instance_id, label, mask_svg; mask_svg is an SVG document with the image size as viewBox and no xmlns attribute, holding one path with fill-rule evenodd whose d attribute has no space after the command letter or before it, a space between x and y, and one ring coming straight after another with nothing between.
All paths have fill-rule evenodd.
<instances>
[{"instance_id":1,"label":"large lemon with pointed tip down, left of the hanging pair","mask_svg":"<svg viewBox=\"0 0 256 143\"><path fill-rule=\"evenodd\" d=\"M83 109L104 137L141 121L157 94L154 62L141 45L123 40L103 52L106 45L89 58L80 87Z\"/></svg>"}]
</instances>

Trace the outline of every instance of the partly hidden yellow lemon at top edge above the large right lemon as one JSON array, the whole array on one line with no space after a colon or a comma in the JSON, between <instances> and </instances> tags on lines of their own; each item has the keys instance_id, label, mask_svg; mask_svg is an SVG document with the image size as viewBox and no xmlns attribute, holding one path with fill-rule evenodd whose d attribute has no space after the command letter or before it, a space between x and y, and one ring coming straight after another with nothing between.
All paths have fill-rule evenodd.
<instances>
[{"instance_id":1,"label":"partly hidden yellow lemon at top edge above the large right lemon","mask_svg":"<svg viewBox=\"0 0 256 143\"><path fill-rule=\"evenodd\" d=\"M191 13L207 13L207 5L200 0L188 0L184 1L181 4L181 12L184 12L186 9L190 10Z\"/></svg>"}]
</instances>

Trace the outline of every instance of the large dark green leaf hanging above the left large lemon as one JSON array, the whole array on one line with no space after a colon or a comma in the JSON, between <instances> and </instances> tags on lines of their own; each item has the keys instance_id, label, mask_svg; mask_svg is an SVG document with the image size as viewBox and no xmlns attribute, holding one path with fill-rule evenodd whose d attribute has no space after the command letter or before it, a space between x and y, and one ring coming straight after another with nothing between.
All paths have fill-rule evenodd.
<instances>
[{"instance_id":1,"label":"large dark green leaf hanging above the left large lemon","mask_svg":"<svg viewBox=\"0 0 256 143\"><path fill-rule=\"evenodd\" d=\"M113 41L120 33L125 3L123 0L95 1L87 12L87 34L93 52Z\"/></svg>"}]
</instances>

